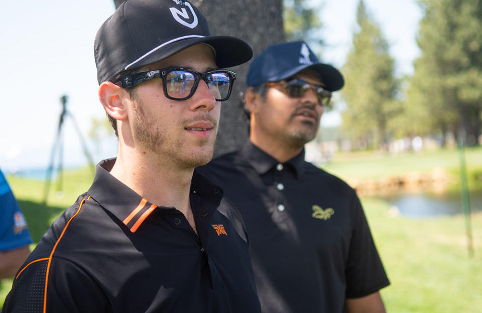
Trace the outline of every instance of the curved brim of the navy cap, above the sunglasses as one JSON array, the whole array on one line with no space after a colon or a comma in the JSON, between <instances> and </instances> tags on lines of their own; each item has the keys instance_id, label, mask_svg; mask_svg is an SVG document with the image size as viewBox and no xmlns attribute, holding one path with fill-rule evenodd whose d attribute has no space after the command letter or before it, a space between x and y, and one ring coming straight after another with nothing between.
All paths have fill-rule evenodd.
<instances>
[{"instance_id":1,"label":"curved brim of the navy cap, above the sunglasses","mask_svg":"<svg viewBox=\"0 0 482 313\"><path fill-rule=\"evenodd\" d=\"M323 83L326 85L326 89L329 91L339 90L345 83L343 76L337 69L329 64L324 63L303 64L291 69L290 71L284 72L283 74L271 76L269 77L269 81L283 80L305 69L310 69L317 72L321 76Z\"/></svg>"}]
</instances>

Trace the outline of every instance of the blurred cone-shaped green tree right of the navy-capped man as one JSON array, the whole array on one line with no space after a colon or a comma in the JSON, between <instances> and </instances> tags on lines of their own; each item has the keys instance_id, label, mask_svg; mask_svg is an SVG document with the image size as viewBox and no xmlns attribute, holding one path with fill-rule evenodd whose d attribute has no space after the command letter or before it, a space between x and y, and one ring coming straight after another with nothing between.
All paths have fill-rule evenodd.
<instances>
[{"instance_id":1,"label":"blurred cone-shaped green tree right of the navy-capped man","mask_svg":"<svg viewBox=\"0 0 482 313\"><path fill-rule=\"evenodd\" d=\"M377 147L388 142L393 134L391 120L400 113L398 81L387 40L362 0L356 21L359 31L353 35L353 46L342 69L347 105L343 126L352 139Z\"/></svg>"}]
</instances>

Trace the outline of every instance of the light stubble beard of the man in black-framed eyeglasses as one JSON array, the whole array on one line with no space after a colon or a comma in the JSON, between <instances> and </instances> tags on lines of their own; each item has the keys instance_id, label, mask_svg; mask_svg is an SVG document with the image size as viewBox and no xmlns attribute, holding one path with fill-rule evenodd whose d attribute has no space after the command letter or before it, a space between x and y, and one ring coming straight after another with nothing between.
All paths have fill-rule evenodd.
<instances>
[{"instance_id":1,"label":"light stubble beard of the man in black-framed eyeglasses","mask_svg":"<svg viewBox=\"0 0 482 313\"><path fill-rule=\"evenodd\" d=\"M171 164L179 169L194 169L211 161L214 154L215 135L209 139L198 139L196 146L203 147L201 151L188 147L184 140L169 138L168 129L145 113L142 103L135 105L133 136L148 150L159 164ZM217 132L217 122L209 114L198 118L184 120L180 124L189 124L199 119L213 123L213 131Z\"/></svg>"}]
</instances>

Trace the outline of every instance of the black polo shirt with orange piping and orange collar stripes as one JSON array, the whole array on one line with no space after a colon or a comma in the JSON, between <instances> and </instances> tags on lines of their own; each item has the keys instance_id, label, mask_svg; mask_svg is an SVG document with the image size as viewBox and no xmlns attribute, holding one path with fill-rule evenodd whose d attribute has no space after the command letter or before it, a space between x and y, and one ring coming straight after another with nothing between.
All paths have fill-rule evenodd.
<instances>
[{"instance_id":1,"label":"black polo shirt with orange piping and orange collar stripes","mask_svg":"<svg viewBox=\"0 0 482 313\"><path fill-rule=\"evenodd\" d=\"M222 190L193 175L198 236L111 176L113 163L42 237L2 312L260 312L246 231Z\"/></svg>"}]
</instances>

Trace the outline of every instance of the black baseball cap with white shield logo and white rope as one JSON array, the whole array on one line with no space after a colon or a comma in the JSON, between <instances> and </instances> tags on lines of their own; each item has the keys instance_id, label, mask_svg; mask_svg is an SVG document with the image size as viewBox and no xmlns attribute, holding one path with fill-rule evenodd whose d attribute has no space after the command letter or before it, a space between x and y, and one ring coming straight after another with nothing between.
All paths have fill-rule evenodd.
<instances>
[{"instance_id":1,"label":"black baseball cap with white shield logo and white rope","mask_svg":"<svg viewBox=\"0 0 482 313\"><path fill-rule=\"evenodd\" d=\"M241 39L211 36L206 19L188 1L127 0L97 31L97 80L100 84L199 43L213 48L219 68L243 64L253 56Z\"/></svg>"}]
</instances>

